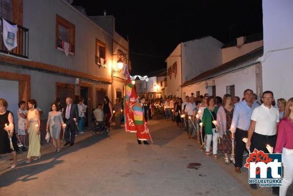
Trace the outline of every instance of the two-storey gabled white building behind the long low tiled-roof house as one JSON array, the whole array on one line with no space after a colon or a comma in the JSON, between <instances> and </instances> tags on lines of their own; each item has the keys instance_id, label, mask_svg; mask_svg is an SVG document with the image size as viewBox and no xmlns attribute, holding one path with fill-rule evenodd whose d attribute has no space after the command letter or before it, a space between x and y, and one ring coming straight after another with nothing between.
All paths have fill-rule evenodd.
<instances>
[{"instance_id":1,"label":"two-storey gabled white building behind the long low tiled-roof house","mask_svg":"<svg viewBox=\"0 0 293 196\"><path fill-rule=\"evenodd\" d=\"M210 36L178 44L165 61L167 94L182 96L182 84L204 71L221 65L222 46L223 43Z\"/></svg>"}]
</instances>

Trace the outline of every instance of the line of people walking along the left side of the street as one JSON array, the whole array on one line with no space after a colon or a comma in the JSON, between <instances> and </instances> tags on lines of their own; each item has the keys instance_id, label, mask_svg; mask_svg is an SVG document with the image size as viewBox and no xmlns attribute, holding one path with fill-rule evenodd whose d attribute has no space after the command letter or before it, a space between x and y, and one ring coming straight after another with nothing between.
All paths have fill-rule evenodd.
<instances>
[{"instance_id":1,"label":"line of people walking along the left side of the street","mask_svg":"<svg viewBox=\"0 0 293 196\"><path fill-rule=\"evenodd\" d=\"M74 104L73 100L67 97L65 103L66 105L63 108L61 99L57 98L51 104L48 112L45 131L50 136L54 152L60 152L63 140L65 140L63 146L73 146L77 133L84 133L87 109L84 99L82 98L78 100L77 104ZM10 169L16 168L17 153L20 149L23 152L27 151L26 163L41 158L42 110L37 106L37 101L34 99L29 100L27 103L20 101L18 106L18 126L16 129L15 114L7 110L8 102L5 99L0 99L0 154L12 153L13 164ZM113 109L116 109L116 112ZM119 99L112 106L109 98L105 96L104 103L99 104L98 108L93 110L92 117L95 121L105 122L105 127L109 128L111 126L110 118L113 114L116 114L116 126L120 127L122 111L123 107Z\"/></svg>"}]
</instances>

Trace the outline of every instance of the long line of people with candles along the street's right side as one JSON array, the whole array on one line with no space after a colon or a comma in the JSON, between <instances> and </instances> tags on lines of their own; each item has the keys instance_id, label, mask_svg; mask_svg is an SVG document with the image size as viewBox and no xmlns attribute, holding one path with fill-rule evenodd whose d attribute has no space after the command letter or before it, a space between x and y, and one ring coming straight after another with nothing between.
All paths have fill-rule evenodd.
<instances>
[{"instance_id":1,"label":"long line of people with candles along the street's right side","mask_svg":"<svg viewBox=\"0 0 293 196\"><path fill-rule=\"evenodd\" d=\"M283 154L282 186L272 187L274 195L286 196L293 182L293 98L276 100L273 92L265 91L260 101L251 89L240 97L225 94L213 98L209 94L157 99L155 107L176 122L179 130L187 131L188 139L195 139L200 151L218 159L224 154L225 164L234 164L235 172L241 173L243 155L254 149ZM245 152L246 151L246 152ZM270 152L272 153L272 152ZM250 185L257 189L256 184Z\"/></svg>"}]
</instances>

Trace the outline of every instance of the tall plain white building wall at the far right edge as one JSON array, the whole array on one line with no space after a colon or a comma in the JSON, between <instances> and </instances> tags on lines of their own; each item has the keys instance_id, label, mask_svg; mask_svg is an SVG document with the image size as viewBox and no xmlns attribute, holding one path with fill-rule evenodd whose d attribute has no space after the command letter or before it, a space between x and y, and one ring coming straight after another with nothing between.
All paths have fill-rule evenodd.
<instances>
[{"instance_id":1,"label":"tall plain white building wall at the far right edge","mask_svg":"<svg viewBox=\"0 0 293 196\"><path fill-rule=\"evenodd\" d=\"M293 1L263 0L263 89L276 98L293 97Z\"/></svg>"}]
</instances>

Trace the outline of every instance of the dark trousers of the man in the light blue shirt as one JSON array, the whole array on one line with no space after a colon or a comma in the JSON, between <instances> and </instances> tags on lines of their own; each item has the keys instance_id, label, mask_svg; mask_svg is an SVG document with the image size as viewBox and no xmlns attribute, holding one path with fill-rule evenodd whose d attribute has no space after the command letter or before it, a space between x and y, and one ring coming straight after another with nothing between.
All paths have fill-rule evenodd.
<instances>
[{"instance_id":1,"label":"dark trousers of the man in the light blue shirt","mask_svg":"<svg viewBox=\"0 0 293 196\"><path fill-rule=\"evenodd\" d=\"M243 152L246 151L245 143L242 141L244 137L247 137L247 131L237 128L235 131L235 167L242 168L243 166Z\"/></svg>"}]
</instances>

